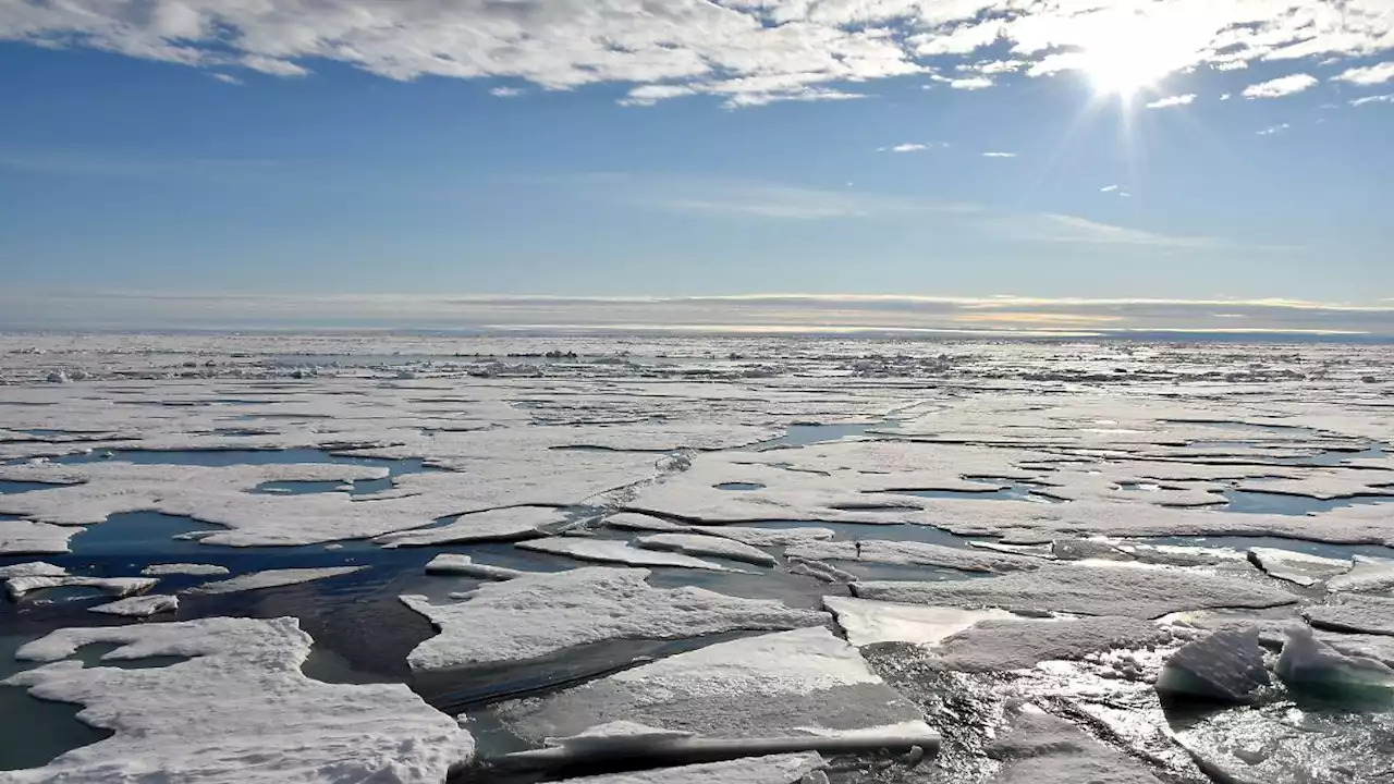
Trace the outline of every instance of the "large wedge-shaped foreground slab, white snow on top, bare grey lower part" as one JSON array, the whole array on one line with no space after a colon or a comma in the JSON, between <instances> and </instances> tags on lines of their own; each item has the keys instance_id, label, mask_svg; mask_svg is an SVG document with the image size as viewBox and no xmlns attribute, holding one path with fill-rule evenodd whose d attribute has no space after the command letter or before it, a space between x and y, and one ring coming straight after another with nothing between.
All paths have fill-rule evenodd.
<instances>
[{"instance_id":1,"label":"large wedge-shaped foreground slab, white snow on top, bare grey lower part","mask_svg":"<svg viewBox=\"0 0 1394 784\"><path fill-rule=\"evenodd\" d=\"M934 737L920 710L871 672L856 647L821 626L711 644L495 710L513 732L535 741L619 720L742 741Z\"/></svg>"}]
</instances>

